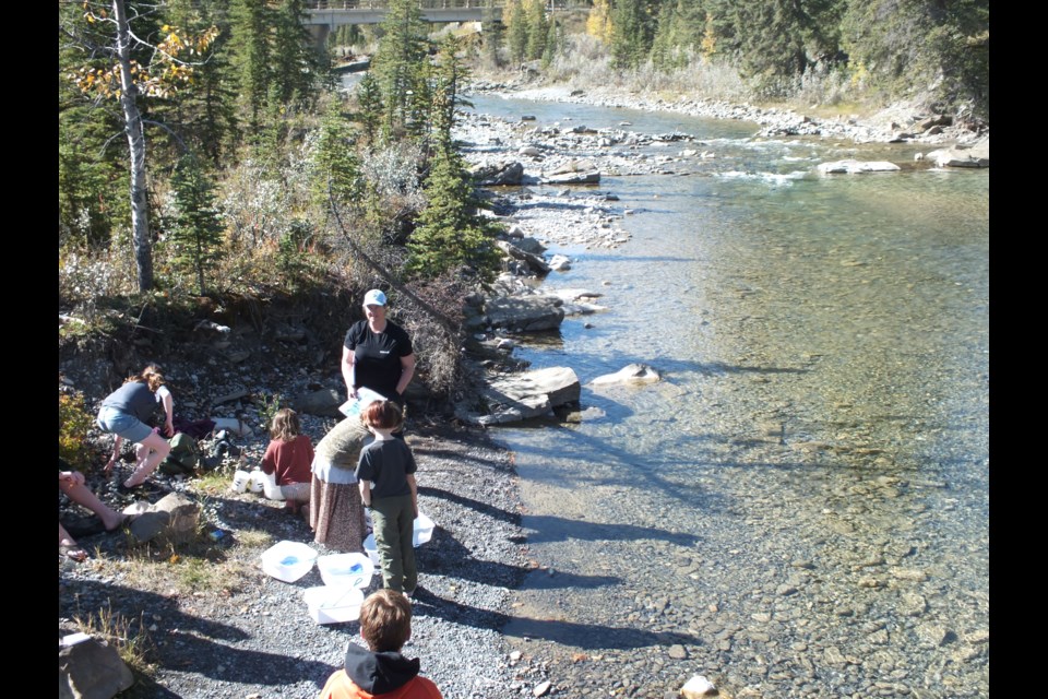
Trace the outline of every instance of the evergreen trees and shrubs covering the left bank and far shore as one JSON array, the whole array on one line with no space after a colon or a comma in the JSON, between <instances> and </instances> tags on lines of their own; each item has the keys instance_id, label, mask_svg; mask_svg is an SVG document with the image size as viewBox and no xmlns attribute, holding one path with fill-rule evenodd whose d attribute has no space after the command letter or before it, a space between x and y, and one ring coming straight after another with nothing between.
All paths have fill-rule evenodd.
<instances>
[{"instance_id":1,"label":"evergreen trees and shrubs covering the left bank and far shore","mask_svg":"<svg viewBox=\"0 0 1048 699\"><path fill-rule=\"evenodd\" d=\"M499 264L451 138L468 71L989 118L988 0L510 0L479 40L439 51L455 27L392 0L381 25L332 32L326 58L305 8L59 3L60 343L379 284L401 321L439 328L418 337L419 378L445 392L456 299ZM354 94L331 90L330 60L362 54Z\"/></svg>"}]
</instances>

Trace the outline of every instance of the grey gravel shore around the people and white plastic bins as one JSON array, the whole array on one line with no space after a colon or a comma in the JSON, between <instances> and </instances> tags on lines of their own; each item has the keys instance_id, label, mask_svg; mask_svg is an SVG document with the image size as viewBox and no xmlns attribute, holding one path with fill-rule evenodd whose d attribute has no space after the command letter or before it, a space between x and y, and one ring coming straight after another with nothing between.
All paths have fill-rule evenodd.
<instances>
[{"instance_id":1,"label":"grey gravel shore around the people and white plastic bins","mask_svg":"<svg viewBox=\"0 0 1048 699\"><path fill-rule=\"evenodd\" d=\"M191 367L169 363L165 368L178 406L179 386L188 388L202 377ZM196 390L194 401L242 386L254 395L296 388L273 380L241 377L236 386ZM258 463L267 443L258 410L247 399L226 408L213 416L236 410L255 428L253 437L235 443L248 464ZM314 443L334 424L311 416L302 422ZM407 440L419 464L420 507L437 526L432 540L417 549L421 590L405 653L421 659L422 674L449 698L495 699L529 690L534 683L524 677L535 673L510 660L499 635L509 590L527 568L510 455L476 429L409 422ZM202 446L206 450L209 442ZM360 642L356 621L320 626L309 616L303 591L323 584L315 567L294 583L263 573L259 555L277 541L306 542L321 555L332 552L312 543L309 526L282 502L234 493L228 473L235 466L236 459L227 457L222 478L156 475L144 497L155 502L179 491L195 500L205 533L222 530L218 542L204 535L203 543L175 553L155 544L131 547L119 533L96 534L79 540L91 553L86 562L60 560L59 637L80 630L78 619L98 624L99 614L111 614L128 621L148 650L154 668L121 696L312 698L341 667L345 644ZM118 471L124 473L108 481L91 474L88 485L122 508L132 498L117 493L116 484L129 467L122 465ZM60 497L60 514L69 520L85 512L70 509ZM223 577L215 579L209 569ZM380 585L376 574L365 592Z\"/></svg>"}]
</instances>

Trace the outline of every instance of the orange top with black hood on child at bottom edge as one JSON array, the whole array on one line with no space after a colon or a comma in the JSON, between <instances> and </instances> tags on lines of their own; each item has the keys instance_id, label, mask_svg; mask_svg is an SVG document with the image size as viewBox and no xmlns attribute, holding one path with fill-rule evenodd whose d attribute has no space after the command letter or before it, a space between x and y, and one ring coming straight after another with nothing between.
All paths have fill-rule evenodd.
<instances>
[{"instance_id":1,"label":"orange top with black hood on child at bottom edge","mask_svg":"<svg viewBox=\"0 0 1048 699\"><path fill-rule=\"evenodd\" d=\"M346 649L346 670L331 676L321 699L441 699L432 682L418 676L418 659L389 651L372 653L355 643Z\"/></svg>"}]
</instances>

